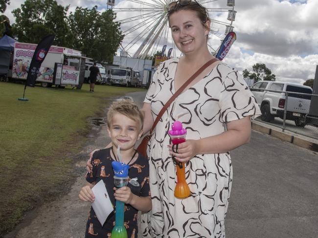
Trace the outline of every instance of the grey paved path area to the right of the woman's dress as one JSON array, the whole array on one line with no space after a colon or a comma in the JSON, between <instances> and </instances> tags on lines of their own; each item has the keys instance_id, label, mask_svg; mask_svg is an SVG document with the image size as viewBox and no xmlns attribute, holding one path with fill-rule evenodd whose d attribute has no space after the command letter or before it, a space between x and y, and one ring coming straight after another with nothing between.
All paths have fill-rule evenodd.
<instances>
[{"instance_id":1,"label":"grey paved path area to the right of the woman's dress","mask_svg":"<svg viewBox=\"0 0 318 238\"><path fill-rule=\"evenodd\" d=\"M227 238L317 238L317 155L253 131L231 152Z\"/></svg>"}]
</instances>

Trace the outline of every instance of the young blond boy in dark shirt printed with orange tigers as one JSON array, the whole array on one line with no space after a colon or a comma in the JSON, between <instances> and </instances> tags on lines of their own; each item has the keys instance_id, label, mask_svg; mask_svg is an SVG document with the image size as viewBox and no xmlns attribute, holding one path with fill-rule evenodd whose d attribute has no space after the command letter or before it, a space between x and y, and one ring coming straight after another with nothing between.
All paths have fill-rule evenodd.
<instances>
[{"instance_id":1,"label":"young blond boy in dark shirt printed with orange tigers","mask_svg":"<svg viewBox=\"0 0 318 238\"><path fill-rule=\"evenodd\" d=\"M138 237L137 212L151 210L148 160L134 149L136 141L142 135L142 125L143 116L131 100L116 101L111 105L107 113L107 130L113 146L93 154L92 171L86 177L87 185L81 189L79 194L81 200L93 202L94 194L91 188L98 181L103 180L113 205L116 204L115 200L125 202L124 225L128 238ZM125 187L114 188L114 171L111 163L119 161L117 157L118 146L120 146L122 162L130 166L129 178L137 179L137 186L135 183L133 183L135 186L128 183ZM110 237L114 224L114 212L109 215L104 224L100 224L91 207L85 237Z\"/></svg>"}]
</instances>

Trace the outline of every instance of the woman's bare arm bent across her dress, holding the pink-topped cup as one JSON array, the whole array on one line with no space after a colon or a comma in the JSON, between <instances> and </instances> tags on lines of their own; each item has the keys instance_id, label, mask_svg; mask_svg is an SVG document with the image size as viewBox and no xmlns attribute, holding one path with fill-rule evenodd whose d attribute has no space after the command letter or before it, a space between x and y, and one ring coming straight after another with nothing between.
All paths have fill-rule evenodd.
<instances>
[{"instance_id":1,"label":"woman's bare arm bent across her dress, holding the pink-topped cup","mask_svg":"<svg viewBox=\"0 0 318 238\"><path fill-rule=\"evenodd\" d=\"M179 144L178 153L172 151L181 162L187 162L198 154L226 153L250 141L251 123L250 116L243 119L233 120L227 123L227 131L216 136L204 139L189 139Z\"/></svg>"}]
</instances>

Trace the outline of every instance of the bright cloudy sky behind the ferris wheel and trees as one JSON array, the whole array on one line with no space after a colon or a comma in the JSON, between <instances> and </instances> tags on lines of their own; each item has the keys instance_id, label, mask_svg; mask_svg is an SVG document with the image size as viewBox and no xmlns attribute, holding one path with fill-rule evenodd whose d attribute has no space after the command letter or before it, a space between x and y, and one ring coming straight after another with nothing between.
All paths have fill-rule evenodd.
<instances>
[{"instance_id":1,"label":"bright cloudy sky behind the ferris wheel and trees","mask_svg":"<svg viewBox=\"0 0 318 238\"><path fill-rule=\"evenodd\" d=\"M116 0L115 7L133 10L118 12L117 19L141 16L146 14L145 9L150 7L147 2L150 5L158 5L157 3L161 4L160 2L163 1L142 0L143 4L140 4L129 0ZM10 23L15 21L11 11L19 8L23 2L23 0L11 0L4 13L10 19ZM74 11L76 6L91 8L97 5L100 11L105 11L107 8L106 0L57 0L57 2L63 6L70 4L69 11ZM200 2L206 2L202 4L207 8L227 7L227 0ZM244 69L251 70L255 63L265 63L276 75L276 80L302 84L307 79L314 79L318 65L317 9L318 0L236 0L234 10L237 13L232 26L237 40L223 61L241 73ZM160 11L157 16L159 14ZM214 20L228 21L227 12L210 12L209 16ZM143 17L140 21L147 20ZM133 24L131 22L122 24L122 30L131 29ZM224 25L216 23L213 26L218 34L224 36ZM140 35L141 28L127 34L123 45L128 44L134 38L134 34ZM168 49L171 47L169 28L164 27L161 32L161 35L167 36ZM210 38L213 47L221 43L214 35ZM136 52L139 45L140 41L130 48L131 54ZM161 45L163 43L158 45L158 50L161 50Z\"/></svg>"}]
</instances>

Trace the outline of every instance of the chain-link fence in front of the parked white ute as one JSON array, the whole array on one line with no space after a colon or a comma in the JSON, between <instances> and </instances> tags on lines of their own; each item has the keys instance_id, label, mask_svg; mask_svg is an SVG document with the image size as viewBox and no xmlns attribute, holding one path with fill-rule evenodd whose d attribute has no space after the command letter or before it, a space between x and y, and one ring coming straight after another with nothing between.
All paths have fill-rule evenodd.
<instances>
[{"instance_id":1,"label":"chain-link fence in front of the parked white ute","mask_svg":"<svg viewBox=\"0 0 318 238\"><path fill-rule=\"evenodd\" d=\"M262 101L262 115L256 120L275 125L283 132L288 130L318 139L318 95L275 90L266 93L270 97Z\"/></svg>"}]
</instances>

